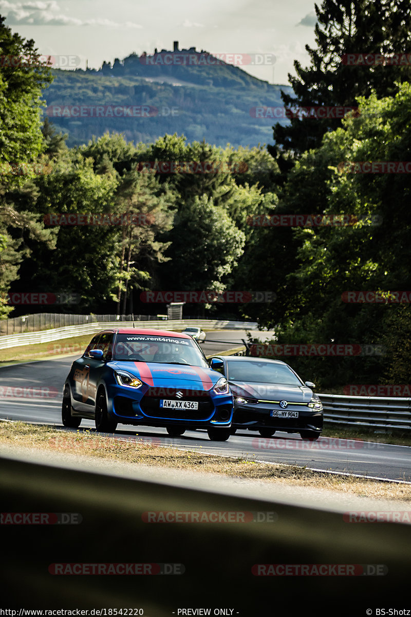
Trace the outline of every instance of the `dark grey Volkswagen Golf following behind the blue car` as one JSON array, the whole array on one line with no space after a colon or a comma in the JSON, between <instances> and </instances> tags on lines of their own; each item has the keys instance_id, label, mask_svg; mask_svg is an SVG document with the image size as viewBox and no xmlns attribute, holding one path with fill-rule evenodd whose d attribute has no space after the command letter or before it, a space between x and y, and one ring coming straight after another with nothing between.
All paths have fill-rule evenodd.
<instances>
[{"instance_id":1,"label":"dark grey Volkswagen Golf following behind the blue car","mask_svg":"<svg viewBox=\"0 0 411 617\"><path fill-rule=\"evenodd\" d=\"M234 394L232 433L237 429L258 431L271 437L275 431L299 433L318 439L323 426L322 402L315 385L305 383L282 360L241 356L216 356L224 363L221 372Z\"/></svg>"}]
</instances>

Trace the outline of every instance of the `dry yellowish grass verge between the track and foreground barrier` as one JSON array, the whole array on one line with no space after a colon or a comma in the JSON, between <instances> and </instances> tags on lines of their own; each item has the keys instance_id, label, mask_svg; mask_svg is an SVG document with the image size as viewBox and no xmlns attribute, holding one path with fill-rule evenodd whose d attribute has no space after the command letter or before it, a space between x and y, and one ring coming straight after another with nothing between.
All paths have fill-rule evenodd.
<instances>
[{"instance_id":1,"label":"dry yellowish grass verge between the track and foreground barrier","mask_svg":"<svg viewBox=\"0 0 411 617\"><path fill-rule=\"evenodd\" d=\"M411 508L411 485L319 473L305 467L261 463L252 457L221 457L198 450L179 450L145 439L131 441L102 436L89 429L61 430L52 426L0 421L0 444L273 482L278 485L325 489L345 495L397 500Z\"/></svg>"}]
</instances>

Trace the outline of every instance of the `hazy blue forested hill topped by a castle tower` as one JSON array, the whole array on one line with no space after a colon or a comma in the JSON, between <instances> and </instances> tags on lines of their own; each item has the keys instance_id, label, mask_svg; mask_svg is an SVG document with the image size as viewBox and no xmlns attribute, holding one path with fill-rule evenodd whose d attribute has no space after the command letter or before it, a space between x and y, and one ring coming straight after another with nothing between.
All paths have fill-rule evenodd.
<instances>
[{"instance_id":1,"label":"hazy blue forested hill topped by a castle tower","mask_svg":"<svg viewBox=\"0 0 411 617\"><path fill-rule=\"evenodd\" d=\"M187 64L177 64L184 57ZM189 64L193 57L197 65ZM272 118L253 117L250 110L282 107L280 89L290 91L290 86L270 85L222 60L212 62L213 56L192 48L131 54L113 66L104 62L100 70L54 70L55 80L44 92L46 113L58 130L68 133L68 146L105 131L124 133L136 143L153 142L165 133L216 146L274 143ZM115 117L122 113L115 106L128 107L126 115ZM140 113L144 117L136 117Z\"/></svg>"}]
</instances>

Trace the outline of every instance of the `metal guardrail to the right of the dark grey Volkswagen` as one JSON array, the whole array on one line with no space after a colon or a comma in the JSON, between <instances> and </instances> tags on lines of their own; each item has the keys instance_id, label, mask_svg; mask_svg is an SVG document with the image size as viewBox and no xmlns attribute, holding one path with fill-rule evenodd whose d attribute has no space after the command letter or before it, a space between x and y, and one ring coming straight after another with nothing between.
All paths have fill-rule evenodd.
<instances>
[{"instance_id":1,"label":"metal guardrail to the right of the dark grey Volkswagen","mask_svg":"<svg viewBox=\"0 0 411 617\"><path fill-rule=\"evenodd\" d=\"M354 428L411 429L411 398L320 394L324 420Z\"/></svg>"}]
</instances>

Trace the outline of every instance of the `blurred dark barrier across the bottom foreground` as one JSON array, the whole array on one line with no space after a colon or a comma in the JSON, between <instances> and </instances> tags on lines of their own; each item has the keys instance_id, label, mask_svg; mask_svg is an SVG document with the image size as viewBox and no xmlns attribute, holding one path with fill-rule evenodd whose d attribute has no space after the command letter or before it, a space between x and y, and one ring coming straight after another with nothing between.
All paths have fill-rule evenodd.
<instances>
[{"instance_id":1,"label":"blurred dark barrier across the bottom foreground","mask_svg":"<svg viewBox=\"0 0 411 617\"><path fill-rule=\"evenodd\" d=\"M238 480L229 488L226 483L223 492L219 479L213 490L214 480L200 474L187 481L176 473L171 481L164 473L161 482L161 470L153 480L137 464L131 475L122 466L107 471L102 465L98 471L86 458L74 463L65 457L59 464L61 455L47 455L42 462L33 452L11 452L0 453L1 511L74 512L81 523L0 525L2 608L105 608L106 615L115 615L108 609L142 614L124 613L133 608L148 617L301 615L308 607L315 607L316 615L334 617L365 615L367 608L375 615L375 607L388 604L411 608L410 524L350 524L343 516L346 505L327 511L286 503L285 498L279 502L244 496L247 491ZM261 523L148 524L145 514L210 510L271 511L275 516ZM63 563L89 566L63 574L66 570L55 566ZM163 568L171 575L139 575L141 567L133 574L105 576L111 563L116 568L162 564L154 573ZM92 564L106 566L97 575ZM165 564L184 568L173 576L173 568L167 570ZM304 564L328 565L322 572L329 575L301 569ZM336 564L344 567L330 566ZM361 576L358 565L371 565L368 573L381 575ZM80 571L91 575L76 574ZM118 571L123 573L124 568ZM284 603L287 610L279 611ZM210 608L210 613L182 613L182 608Z\"/></svg>"}]
</instances>

